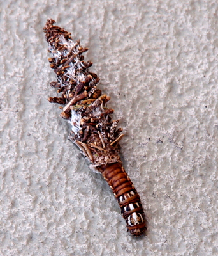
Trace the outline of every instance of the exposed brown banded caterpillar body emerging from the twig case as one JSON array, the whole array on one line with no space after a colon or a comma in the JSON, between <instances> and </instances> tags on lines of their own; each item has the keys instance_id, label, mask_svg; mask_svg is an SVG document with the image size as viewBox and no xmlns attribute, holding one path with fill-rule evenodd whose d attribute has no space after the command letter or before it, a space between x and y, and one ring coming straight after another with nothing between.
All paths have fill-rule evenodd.
<instances>
[{"instance_id":1,"label":"exposed brown banded caterpillar body emerging from the twig case","mask_svg":"<svg viewBox=\"0 0 218 256\"><path fill-rule=\"evenodd\" d=\"M113 190L113 194L119 202L122 216L126 220L129 232L133 236L141 236L146 230L145 214L142 209L140 196L122 167L122 164L104 164L99 166L98 170Z\"/></svg>"}]
</instances>

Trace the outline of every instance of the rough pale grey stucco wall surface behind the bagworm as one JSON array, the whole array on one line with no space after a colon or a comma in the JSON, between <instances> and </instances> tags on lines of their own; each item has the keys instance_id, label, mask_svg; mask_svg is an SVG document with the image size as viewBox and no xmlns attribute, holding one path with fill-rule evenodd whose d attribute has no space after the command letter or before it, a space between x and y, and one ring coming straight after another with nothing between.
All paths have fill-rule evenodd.
<instances>
[{"instance_id":1,"label":"rough pale grey stucco wall surface behind the bagworm","mask_svg":"<svg viewBox=\"0 0 218 256\"><path fill-rule=\"evenodd\" d=\"M217 255L217 1L0 1L0 255ZM89 47L147 235L68 140L43 26Z\"/></svg>"}]
</instances>

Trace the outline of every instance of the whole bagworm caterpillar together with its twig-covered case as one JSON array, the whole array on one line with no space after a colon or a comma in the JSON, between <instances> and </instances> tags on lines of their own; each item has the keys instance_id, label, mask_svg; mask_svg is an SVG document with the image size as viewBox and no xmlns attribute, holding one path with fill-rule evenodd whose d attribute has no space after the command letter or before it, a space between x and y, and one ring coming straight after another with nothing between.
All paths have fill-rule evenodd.
<instances>
[{"instance_id":1,"label":"whole bagworm caterpillar together with its twig-covered case","mask_svg":"<svg viewBox=\"0 0 218 256\"><path fill-rule=\"evenodd\" d=\"M112 120L113 109L106 107L110 100L96 87L99 77L89 72L91 62L85 62L82 55L88 49L73 42L71 33L54 25L48 19L43 29L48 42L50 67L57 75L57 81L50 86L59 88L61 97L48 100L61 104L62 118L72 125L69 139L75 143L112 188L119 202L127 228L133 236L145 231L145 214L138 195L129 176L122 167L118 143L122 129L116 129L119 120Z\"/></svg>"}]
</instances>

